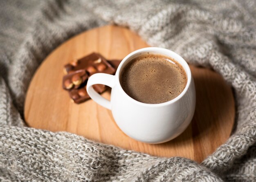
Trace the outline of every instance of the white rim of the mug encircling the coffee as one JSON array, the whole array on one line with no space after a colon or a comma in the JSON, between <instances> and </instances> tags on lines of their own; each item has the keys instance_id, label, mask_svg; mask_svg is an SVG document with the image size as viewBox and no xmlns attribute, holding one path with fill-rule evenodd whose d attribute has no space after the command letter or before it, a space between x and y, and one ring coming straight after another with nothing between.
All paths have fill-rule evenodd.
<instances>
[{"instance_id":1,"label":"white rim of the mug encircling the coffee","mask_svg":"<svg viewBox=\"0 0 256 182\"><path fill-rule=\"evenodd\" d=\"M184 88L184 90L177 96L175 97L174 99L170 100L170 101L167 101L167 102L163 102L163 103L157 103L157 104L150 104L150 103L143 103L143 102L140 102L140 101L137 101L135 99L133 99L132 97L130 97L125 91L124 89L122 88L121 86L121 83L120 83L120 70L121 68L124 66L124 63L126 61L128 61L130 59L130 57L132 57L133 55L137 55L139 53L144 53L144 52L151 52L151 53L160 53L160 54L163 54L165 56L168 56L168 57L171 57L172 59L174 59L171 55L175 55L175 57L178 57L179 60L177 59L174 59L175 61L177 61L181 66L182 68L185 70L186 72L186 76L187 76L187 83L186 83L186 87ZM164 52L168 52L169 55L167 55L166 53ZM182 62L182 63L181 63ZM117 68L117 71L116 71L116 74L115 74L115 77L117 79L117 84L118 86L121 88L121 91L126 95L128 96L128 98L137 103L137 104L140 104L140 105L144 105L144 106L148 106L148 107L159 107L159 106L164 106L164 105L169 105L171 103L175 103L176 101L180 100L184 94L187 92L187 90L189 89L189 86L190 86L190 83L191 83L191 80L192 80L192 74L191 74L191 70L189 68L189 65L187 64L187 62L183 59L183 57L181 57L180 55L178 55L177 53L173 52L172 50L169 50L169 49L166 49L166 48L159 48L159 47L146 47L146 48L141 48L141 49L138 49L138 50L135 50L133 51L132 53L128 54L126 57L124 57L124 59L121 61L121 63L119 64L118 68Z\"/></svg>"}]
</instances>

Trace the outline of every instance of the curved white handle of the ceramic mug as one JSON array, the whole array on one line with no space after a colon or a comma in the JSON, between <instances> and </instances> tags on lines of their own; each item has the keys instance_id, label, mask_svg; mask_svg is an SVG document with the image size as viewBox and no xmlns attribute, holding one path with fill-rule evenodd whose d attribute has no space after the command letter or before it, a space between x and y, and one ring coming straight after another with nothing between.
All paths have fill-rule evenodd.
<instances>
[{"instance_id":1,"label":"curved white handle of the ceramic mug","mask_svg":"<svg viewBox=\"0 0 256 182\"><path fill-rule=\"evenodd\" d=\"M93 74L88 79L87 87L86 87L87 93L92 98L92 100L97 102L99 105L111 110L110 101L108 99L105 99L100 94L98 94L92 87L93 85L96 85L96 84L102 84L102 85L106 85L113 88L115 86L115 75L109 75L106 73Z\"/></svg>"}]
</instances>

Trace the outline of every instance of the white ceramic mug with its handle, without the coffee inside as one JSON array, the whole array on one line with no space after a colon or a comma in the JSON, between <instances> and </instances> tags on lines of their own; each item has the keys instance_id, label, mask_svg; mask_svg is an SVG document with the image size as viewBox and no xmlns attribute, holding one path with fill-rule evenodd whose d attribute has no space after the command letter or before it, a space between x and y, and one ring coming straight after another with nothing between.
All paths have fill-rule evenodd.
<instances>
[{"instance_id":1,"label":"white ceramic mug with its handle, without the coffee inside","mask_svg":"<svg viewBox=\"0 0 256 182\"><path fill-rule=\"evenodd\" d=\"M187 84L175 99L159 104L141 103L122 89L119 81L122 68L147 52L171 57L184 68ZM95 84L112 88L110 101L95 92L92 87ZM177 137L189 125L195 111L195 85L189 65L180 55L165 48L148 47L130 53L121 61L115 75L92 75L87 83L87 92L95 102L112 111L117 125L125 134L144 143L163 143Z\"/></svg>"}]
</instances>

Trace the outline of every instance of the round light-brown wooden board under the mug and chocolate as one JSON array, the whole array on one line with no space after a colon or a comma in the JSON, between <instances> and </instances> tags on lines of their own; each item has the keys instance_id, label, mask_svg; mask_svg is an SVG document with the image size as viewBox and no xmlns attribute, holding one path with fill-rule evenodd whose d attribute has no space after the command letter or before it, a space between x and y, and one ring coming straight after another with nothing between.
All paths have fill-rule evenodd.
<instances>
[{"instance_id":1,"label":"round light-brown wooden board under the mug and chocolate","mask_svg":"<svg viewBox=\"0 0 256 182\"><path fill-rule=\"evenodd\" d=\"M108 59L122 59L144 47L148 45L138 35L118 26L92 29L68 40L43 61L30 83L25 101L27 124L53 132L71 132L154 156L182 156L201 162L225 143L234 124L231 88L216 72L190 66L197 97L193 120L177 138L155 145L129 138L117 127L110 110L92 100L77 105L61 87L63 65L72 59L92 52ZM109 99L110 90L103 96Z\"/></svg>"}]
</instances>

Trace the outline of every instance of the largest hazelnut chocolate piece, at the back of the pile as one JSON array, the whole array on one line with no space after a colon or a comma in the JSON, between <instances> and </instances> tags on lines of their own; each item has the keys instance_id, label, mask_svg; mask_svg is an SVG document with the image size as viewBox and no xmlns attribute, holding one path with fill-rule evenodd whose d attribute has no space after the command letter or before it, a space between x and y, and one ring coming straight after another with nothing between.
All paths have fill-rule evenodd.
<instances>
[{"instance_id":1,"label":"largest hazelnut chocolate piece, at the back of the pile","mask_svg":"<svg viewBox=\"0 0 256 182\"><path fill-rule=\"evenodd\" d=\"M70 69L70 66L73 66L72 69ZM97 53L92 53L81 59L74 60L70 64L65 65L64 68L67 73L84 69L88 72L89 76L99 72L112 75L116 71L102 55Z\"/></svg>"}]
</instances>

